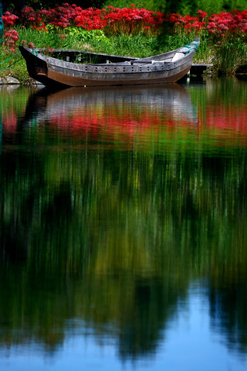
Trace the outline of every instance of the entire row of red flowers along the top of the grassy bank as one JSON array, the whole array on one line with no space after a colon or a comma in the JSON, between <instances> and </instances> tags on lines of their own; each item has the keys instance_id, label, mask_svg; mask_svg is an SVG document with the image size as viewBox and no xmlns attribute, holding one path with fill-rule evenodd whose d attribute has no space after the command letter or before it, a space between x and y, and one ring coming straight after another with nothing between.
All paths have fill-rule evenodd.
<instances>
[{"instance_id":1,"label":"entire row of red flowers along the top of the grassy bank","mask_svg":"<svg viewBox=\"0 0 247 371\"><path fill-rule=\"evenodd\" d=\"M12 26L17 16L7 12L3 16L5 26ZM153 35L160 30L163 22L170 24L175 33L184 35L195 32L209 32L216 36L225 36L226 33L246 36L247 34L247 10L239 12L222 12L207 17L202 10L197 11L197 16L185 16L180 14L164 14L151 12L146 9L137 9L134 4L129 8L118 9L108 6L106 9L82 9L76 4L64 3L54 9L34 11L31 7L25 7L21 13L19 22L25 26L31 25L37 31L47 31L47 24L54 27L64 28L68 26L83 27L86 30L104 29L107 34L114 35L134 34L144 32Z\"/></svg>"}]
</instances>

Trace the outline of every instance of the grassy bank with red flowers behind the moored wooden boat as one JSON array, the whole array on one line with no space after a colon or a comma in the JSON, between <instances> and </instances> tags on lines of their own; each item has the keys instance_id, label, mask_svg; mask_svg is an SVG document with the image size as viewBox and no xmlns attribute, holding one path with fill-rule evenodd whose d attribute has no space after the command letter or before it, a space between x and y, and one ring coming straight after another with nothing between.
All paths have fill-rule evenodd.
<instances>
[{"instance_id":1,"label":"grassy bank with red flowers behind the moored wooden boat","mask_svg":"<svg viewBox=\"0 0 247 371\"><path fill-rule=\"evenodd\" d=\"M247 10L213 16L198 10L195 16L182 17L136 8L83 10L64 4L49 10L28 7L20 18L7 14L3 19L0 77L11 76L26 85L31 79L17 54L19 45L45 48L48 55L52 49L77 49L145 58L200 37L194 63L213 63L212 72L218 75L234 74L247 65Z\"/></svg>"}]
</instances>

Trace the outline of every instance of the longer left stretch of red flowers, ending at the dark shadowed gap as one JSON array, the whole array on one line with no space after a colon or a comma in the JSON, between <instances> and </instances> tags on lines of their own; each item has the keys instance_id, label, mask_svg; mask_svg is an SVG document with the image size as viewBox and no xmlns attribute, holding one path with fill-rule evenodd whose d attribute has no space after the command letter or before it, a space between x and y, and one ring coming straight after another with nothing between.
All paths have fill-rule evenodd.
<instances>
[{"instance_id":1,"label":"longer left stretch of red flowers, ending at the dark shadowed gap","mask_svg":"<svg viewBox=\"0 0 247 371\"><path fill-rule=\"evenodd\" d=\"M151 12L146 9L136 9L134 4L131 8L118 9L108 6L107 9L82 9L76 4L67 3L49 10L35 11L31 7L25 7L21 12L20 23L32 26L37 30L47 31L46 25L55 27L77 26L86 30L103 29L109 33L138 33L155 32L164 19L162 13ZM7 14L4 16L6 26L13 25L18 17Z\"/></svg>"}]
</instances>

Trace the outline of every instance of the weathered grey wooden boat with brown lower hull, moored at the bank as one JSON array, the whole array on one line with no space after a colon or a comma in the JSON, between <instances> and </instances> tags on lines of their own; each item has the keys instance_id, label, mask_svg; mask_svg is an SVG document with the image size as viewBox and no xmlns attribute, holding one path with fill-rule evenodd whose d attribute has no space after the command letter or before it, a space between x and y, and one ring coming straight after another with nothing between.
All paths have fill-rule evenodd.
<instances>
[{"instance_id":1,"label":"weathered grey wooden boat with brown lower hull, moored at the bank","mask_svg":"<svg viewBox=\"0 0 247 371\"><path fill-rule=\"evenodd\" d=\"M106 86L176 82L190 70L200 39L171 52L148 58L131 58L79 50L55 50L61 60L42 50L19 46L29 75L44 85ZM74 63L91 60L94 63ZM71 62L70 62L71 60ZM95 63L97 62L97 63Z\"/></svg>"}]
</instances>

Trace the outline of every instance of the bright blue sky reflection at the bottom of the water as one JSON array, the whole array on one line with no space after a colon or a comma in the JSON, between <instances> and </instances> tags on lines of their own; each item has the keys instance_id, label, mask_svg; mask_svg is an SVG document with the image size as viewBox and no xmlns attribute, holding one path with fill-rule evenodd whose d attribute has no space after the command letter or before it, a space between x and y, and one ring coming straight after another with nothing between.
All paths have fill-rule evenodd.
<instances>
[{"instance_id":1,"label":"bright blue sky reflection at the bottom of the water","mask_svg":"<svg viewBox=\"0 0 247 371\"><path fill-rule=\"evenodd\" d=\"M186 302L178 303L166 329L161 329L157 348L142 357L121 357L114 326L105 326L103 335L97 326L88 328L83 320L71 319L63 343L54 351L35 342L2 349L1 370L246 370L246 356L227 348L224 336L212 328L207 294L204 283L193 282Z\"/></svg>"}]
</instances>

